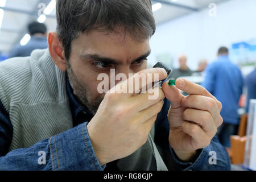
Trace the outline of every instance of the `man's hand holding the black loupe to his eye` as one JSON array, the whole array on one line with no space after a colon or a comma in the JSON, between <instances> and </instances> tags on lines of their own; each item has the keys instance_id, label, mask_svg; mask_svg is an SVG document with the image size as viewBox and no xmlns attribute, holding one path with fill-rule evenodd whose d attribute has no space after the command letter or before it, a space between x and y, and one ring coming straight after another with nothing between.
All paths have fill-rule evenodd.
<instances>
[{"instance_id":1,"label":"man's hand holding the black loupe to his eye","mask_svg":"<svg viewBox=\"0 0 256 182\"><path fill-rule=\"evenodd\" d=\"M162 68L138 72L146 76L148 73L152 74L153 80L154 73L159 73L159 80L167 77L166 71ZM118 92L123 86L131 86L133 82L134 76L110 89L110 92L105 94L97 113L88 123L89 137L101 166L133 154L146 143L156 117L162 109L164 93L159 87L152 88L148 90L150 93L144 94ZM147 83L140 82L140 87L147 86L145 84ZM115 90L115 93L111 90ZM148 99L154 92L159 93L158 97L154 100Z\"/></svg>"}]
</instances>

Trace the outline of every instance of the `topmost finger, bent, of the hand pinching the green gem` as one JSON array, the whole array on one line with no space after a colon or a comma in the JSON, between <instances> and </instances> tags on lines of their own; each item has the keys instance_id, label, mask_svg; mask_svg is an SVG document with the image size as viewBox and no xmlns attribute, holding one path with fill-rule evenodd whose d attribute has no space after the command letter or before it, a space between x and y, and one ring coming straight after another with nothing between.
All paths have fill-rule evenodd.
<instances>
[{"instance_id":1,"label":"topmost finger, bent, of the hand pinching the green gem","mask_svg":"<svg viewBox=\"0 0 256 182\"><path fill-rule=\"evenodd\" d=\"M213 98L217 102L218 110L221 111L222 105L221 102L216 99L212 94L210 94L207 89L199 84L195 84L191 81L179 78L176 80L175 85L178 89L187 92L188 94L200 95Z\"/></svg>"}]
</instances>

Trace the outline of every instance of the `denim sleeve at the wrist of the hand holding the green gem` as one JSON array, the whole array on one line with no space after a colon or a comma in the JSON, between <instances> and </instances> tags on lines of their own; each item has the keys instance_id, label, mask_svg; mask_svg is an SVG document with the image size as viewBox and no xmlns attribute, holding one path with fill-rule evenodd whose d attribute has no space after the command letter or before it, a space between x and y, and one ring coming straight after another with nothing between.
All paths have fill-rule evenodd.
<instances>
[{"instance_id":1,"label":"denim sleeve at the wrist of the hand holding the green gem","mask_svg":"<svg viewBox=\"0 0 256 182\"><path fill-rule=\"evenodd\" d=\"M181 162L174 150L171 148L171 154L181 170L184 171L230 171L230 159L226 149L218 142L218 138L213 137L209 146L201 149L201 152L195 162Z\"/></svg>"}]
</instances>

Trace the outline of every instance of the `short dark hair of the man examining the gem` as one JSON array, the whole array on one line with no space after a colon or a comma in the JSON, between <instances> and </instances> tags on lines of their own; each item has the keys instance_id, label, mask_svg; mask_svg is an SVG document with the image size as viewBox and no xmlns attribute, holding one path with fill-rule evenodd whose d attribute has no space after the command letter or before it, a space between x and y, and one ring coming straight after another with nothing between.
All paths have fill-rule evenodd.
<instances>
[{"instance_id":1,"label":"short dark hair of the man examining the gem","mask_svg":"<svg viewBox=\"0 0 256 182\"><path fill-rule=\"evenodd\" d=\"M57 34L66 59L79 33L122 27L134 40L150 38L156 28L151 5L151 0L57 0Z\"/></svg>"}]
</instances>

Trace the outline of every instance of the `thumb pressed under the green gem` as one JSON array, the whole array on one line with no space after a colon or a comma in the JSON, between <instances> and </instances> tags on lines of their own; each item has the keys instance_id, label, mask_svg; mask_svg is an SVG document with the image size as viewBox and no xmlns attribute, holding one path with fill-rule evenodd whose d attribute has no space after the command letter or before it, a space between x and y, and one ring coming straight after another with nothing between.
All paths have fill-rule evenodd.
<instances>
[{"instance_id":1,"label":"thumb pressed under the green gem","mask_svg":"<svg viewBox=\"0 0 256 182\"><path fill-rule=\"evenodd\" d=\"M183 96L176 86L169 86L168 82L164 82L162 85L164 96L171 102L171 107L176 109L181 107L181 101L185 96Z\"/></svg>"}]
</instances>

